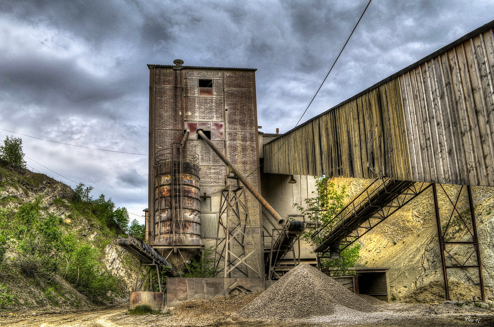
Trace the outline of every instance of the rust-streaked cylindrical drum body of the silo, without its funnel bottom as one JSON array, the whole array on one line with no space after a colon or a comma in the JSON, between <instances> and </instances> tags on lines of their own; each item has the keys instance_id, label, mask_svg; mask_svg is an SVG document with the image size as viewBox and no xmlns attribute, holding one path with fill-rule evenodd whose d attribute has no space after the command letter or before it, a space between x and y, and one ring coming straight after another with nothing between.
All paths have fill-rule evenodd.
<instances>
[{"instance_id":1,"label":"rust-streaked cylindrical drum body of the silo, without its funnel bottom","mask_svg":"<svg viewBox=\"0 0 494 327\"><path fill-rule=\"evenodd\" d=\"M155 185L154 245L201 245L199 165L165 160Z\"/></svg>"}]
</instances>

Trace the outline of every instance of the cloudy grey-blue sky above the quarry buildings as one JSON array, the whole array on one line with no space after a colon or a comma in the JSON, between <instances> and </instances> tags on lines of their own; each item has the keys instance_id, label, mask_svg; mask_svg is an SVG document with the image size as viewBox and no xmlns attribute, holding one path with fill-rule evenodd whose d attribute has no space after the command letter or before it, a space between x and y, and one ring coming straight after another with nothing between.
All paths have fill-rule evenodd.
<instances>
[{"instance_id":1,"label":"cloudy grey-blue sky above the quarry buildings","mask_svg":"<svg viewBox=\"0 0 494 327\"><path fill-rule=\"evenodd\" d=\"M143 221L146 64L256 68L261 130L285 132L367 3L0 0L0 139L22 137L31 170ZM372 0L302 122L493 19L493 0Z\"/></svg>"}]
</instances>

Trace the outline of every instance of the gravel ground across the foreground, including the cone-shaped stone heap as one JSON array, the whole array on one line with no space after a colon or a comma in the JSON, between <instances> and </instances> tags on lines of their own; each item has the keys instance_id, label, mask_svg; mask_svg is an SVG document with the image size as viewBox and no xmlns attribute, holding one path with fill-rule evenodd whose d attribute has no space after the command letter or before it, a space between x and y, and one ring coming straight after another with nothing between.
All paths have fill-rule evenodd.
<instances>
[{"instance_id":1,"label":"gravel ground across the foreground, including the cone-shaped stone heap","mask_svg":"<svg viewBox=\"0 0 494 327\"><path fill-rule=\"evenodd\" d=\"M473 305L405 304L355 295L309 265L299 265L259 296L184 301L162 314L127 307L73 312L0 312L0 326L27 327L322 327L494 326L494 312Z\"/></svg>"}]
</instances>

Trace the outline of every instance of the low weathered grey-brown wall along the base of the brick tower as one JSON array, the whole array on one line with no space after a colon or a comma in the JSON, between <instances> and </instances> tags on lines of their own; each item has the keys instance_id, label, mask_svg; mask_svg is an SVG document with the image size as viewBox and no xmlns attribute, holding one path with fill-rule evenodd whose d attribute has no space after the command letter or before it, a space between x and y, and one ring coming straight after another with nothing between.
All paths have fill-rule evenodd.
<instances>
[{"instance_id":1,"label":"low weathered grey-brown wall along the base of the brick tower","mask_svg":"<svg viewBox=\"0 0 494 327\"><path fill-rule=\"evenodd\" d=\"M229 300L265 289L263 278L167 278L166 301L174 307L186 300Z\"/></svg>"}]
</instances>

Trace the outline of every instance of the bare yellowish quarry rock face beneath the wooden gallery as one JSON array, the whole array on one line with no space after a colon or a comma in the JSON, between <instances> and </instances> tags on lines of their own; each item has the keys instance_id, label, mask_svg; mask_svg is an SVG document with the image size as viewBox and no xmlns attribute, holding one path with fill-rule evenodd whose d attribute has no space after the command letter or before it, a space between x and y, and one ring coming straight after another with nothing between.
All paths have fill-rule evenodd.
<instances>
[{"instance_id":1,"label":"bare yellowish quarry rock face beneath the wooden gallery","mask_svg":"<svg viewBox=\"0 0 494 327\"><path fill-rule=\"evenodd\" d=\"M337 186L348 186L350 199L354 198L360 192L359 190L370 182L349 178L336 178L335 181ZM444 187L448 194L453 195L459 189L459 186L455 185L444 185ZM486 298L494 297L494 188L472 187L472 197ZM438 198L444 231L452 205L441 189L439 189ZM467 197L460 197L457 208L458 212L465 217L468 228L471 229L471 223L468 221L470 209ZM457 213L453 214L446 239L471 241L468 229L463 226L458 217L455 218L456 215ZM360 254L363 262L368 261L367 266L391 268L389 274L393 297L411 302L444 300L444 283L432 188L376 226L360 241L362 245ZM447 250L465 260L473 251L473 246L448 245ZM468 263L473 264L475 254L469 260ZM453 264L453 261L447 260L447 264ZM448 269L448 276L450 298L471 299L473 295L480 296L476 268Z\"/></svg>"}]
</instances>

